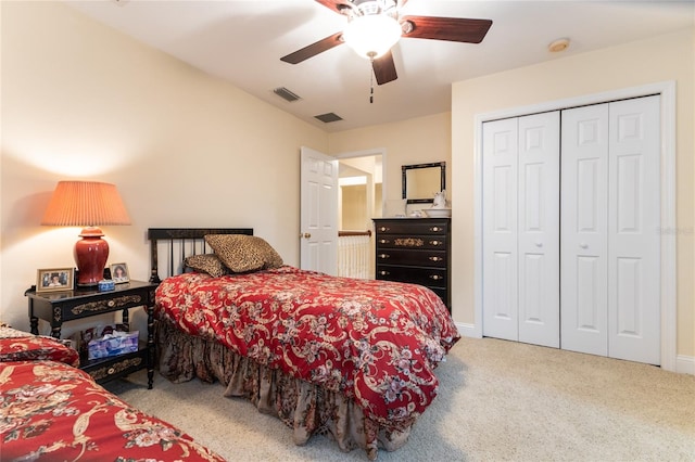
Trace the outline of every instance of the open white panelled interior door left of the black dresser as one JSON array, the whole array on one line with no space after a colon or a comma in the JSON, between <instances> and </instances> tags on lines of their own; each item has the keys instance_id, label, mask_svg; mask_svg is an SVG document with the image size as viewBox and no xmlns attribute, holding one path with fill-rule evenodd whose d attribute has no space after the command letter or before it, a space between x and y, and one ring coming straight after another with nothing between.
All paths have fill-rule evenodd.
<instances>
[{"instance_id":1,"label":"open white panelled interior door left of the black dresser","mask_svg":"<svg viewBox=\"0 0 695 462\"><path fill-rule=\"evenodd\" d=\"M302 146L300 267L338 274L338 159Z\"/></svg>"}]
</instances>

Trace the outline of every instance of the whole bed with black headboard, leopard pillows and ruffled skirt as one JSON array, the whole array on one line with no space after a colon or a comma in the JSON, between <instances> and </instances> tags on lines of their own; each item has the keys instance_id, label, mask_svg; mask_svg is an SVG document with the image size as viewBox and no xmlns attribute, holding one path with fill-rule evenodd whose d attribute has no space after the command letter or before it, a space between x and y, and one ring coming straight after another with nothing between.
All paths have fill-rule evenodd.
<instances>
[{"instance_id":1,"label":"whole bed with black headboard, leopard pillows and ruffled skirt","mask_svg":"<svg viewBox=\"0 0 695 462\"><path fill-rule=\"evenodd\" d=\"M149 236L164 376L222 382L225 396L293 428L298 445L325 434L374 460L407 441L439 393L434 369L459 338L432 291L283 265L248 228Z\"/></svg>"}]
</instances>

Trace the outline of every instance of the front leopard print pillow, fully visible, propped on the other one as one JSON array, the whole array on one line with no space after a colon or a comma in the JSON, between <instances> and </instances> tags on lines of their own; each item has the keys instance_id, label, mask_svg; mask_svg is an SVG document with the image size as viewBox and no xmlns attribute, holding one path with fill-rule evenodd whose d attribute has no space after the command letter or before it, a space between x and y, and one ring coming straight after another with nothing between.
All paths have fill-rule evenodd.
<instances>
[{"instance_id":1,"label":"front leopard print pillow, fully visible, propped on the other one","mask_svg":"<svg viewBox=\"0 0 695 462\"><path fill-rule=\"evenodd\" d=\"M205 242L233 272L279 268L282 257L261 238L245 234L207 234Z\"/></svg>"}]
</instances>

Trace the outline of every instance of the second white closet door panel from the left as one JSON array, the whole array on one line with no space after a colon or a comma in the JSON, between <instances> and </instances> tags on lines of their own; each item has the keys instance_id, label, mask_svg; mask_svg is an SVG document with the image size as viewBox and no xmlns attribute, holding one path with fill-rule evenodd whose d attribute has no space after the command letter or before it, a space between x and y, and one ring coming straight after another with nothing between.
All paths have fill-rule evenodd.
<instances>
[{"instance_id":1,"label":"second white closet door panel from the left","mask_svg":"<svg viewBox=\"0 0 695 462\"><path fill-rule=\"evenodd\" d=\"M559 112L519 117L519 341L558 348Z\"/></svg>"}]
</instances>

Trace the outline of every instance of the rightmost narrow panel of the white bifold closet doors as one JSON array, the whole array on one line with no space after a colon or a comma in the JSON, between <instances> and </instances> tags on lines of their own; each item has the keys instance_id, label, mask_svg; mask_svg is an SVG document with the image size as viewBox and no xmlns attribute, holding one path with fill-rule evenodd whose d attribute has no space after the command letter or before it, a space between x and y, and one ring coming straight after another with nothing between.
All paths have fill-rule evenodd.
<instances>
[{"instance_id":1,"label":"rightmost narrow panel of the white bifold closet doors","mask_svg":"<svg viewBox=\"0 0 695 462\"><path fill-rule=\"evenodd\" d=\"M660 97L610 103L608 356L660 362Z\"/></svg>"}]
</instances>

